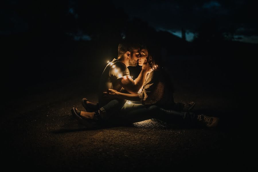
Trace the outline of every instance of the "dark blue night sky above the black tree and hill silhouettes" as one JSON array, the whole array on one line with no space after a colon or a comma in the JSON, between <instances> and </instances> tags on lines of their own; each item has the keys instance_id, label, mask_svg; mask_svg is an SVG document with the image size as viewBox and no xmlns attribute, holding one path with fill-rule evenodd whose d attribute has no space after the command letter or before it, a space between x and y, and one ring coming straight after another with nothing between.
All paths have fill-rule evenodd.
<instances>
[{"instance_id":1,"label":"dark blue night sky above the black tree and hill silhouettes","mask_svg":"<svg viewBox=\"0 0 258 172\"><path fill-rule=\"evenodd\" d=\"M200 27L212 23L211 27L216 28L216 31L221 32L227 39L258 43L258 12L254 1L152 0L147 3L138 0L113 0L105 3L86 3L70 0L60 1L60 4L62 5L59 6L58 1L6 1L1 5L1 36L27 32L39 24L38 20L44 24L44 19L51 18L62 25L58 29L64 29L75 40L91 40L91 29L94 26L88 27L87 30L78 23L87 22L89 25L95 24L96 28L103 26L103 30L108 30L105 27L111 27L114 21L109 21L105 17L118 20L117 15L121 15L121 20L140 18L157 31L168 31L179 37L183 28L187 41L193 41ZM93 17L97 21L87 20L88 17ZM101 24L101 20L104 23ZM32 26L32 22L35 22L35 26ZM126 25L126 22L120 23L122 24Z\"/></svg>"}]
</instances>

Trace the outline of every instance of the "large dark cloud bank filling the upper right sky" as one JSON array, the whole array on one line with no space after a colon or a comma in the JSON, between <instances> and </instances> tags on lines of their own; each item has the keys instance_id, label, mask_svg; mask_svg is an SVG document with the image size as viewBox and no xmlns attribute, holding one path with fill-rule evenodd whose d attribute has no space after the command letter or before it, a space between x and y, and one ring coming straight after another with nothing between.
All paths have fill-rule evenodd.
<instances>
[{"instance_id":1,"label":"large dark cloud bank filling the upper right sky","mask_svg":"<svg viewBox=\"0 0 258 172\"><path fill-rule=\"evenodd\" d=\"M117 7L123 8L130 17L148 21L156 29L178 31L183 27L189 32L196 30L213 19L216 26L224 32L241 30L243 35L257 35L257 7L253 1L119 1ZM237 31L239 32L239 31Z\"/></svg>"}]
</instances>

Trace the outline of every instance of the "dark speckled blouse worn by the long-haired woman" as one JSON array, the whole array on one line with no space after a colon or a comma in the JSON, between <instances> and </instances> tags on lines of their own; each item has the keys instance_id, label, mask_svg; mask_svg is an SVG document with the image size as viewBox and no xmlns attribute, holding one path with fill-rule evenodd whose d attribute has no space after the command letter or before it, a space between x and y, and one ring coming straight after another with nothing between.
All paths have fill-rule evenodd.
<instances>
[{"instance_id":1,"label":"dark speckled blouse worn by the long-haired woman","mask_svg":"<svg viewBox=\"0 0 258 172\"><path fill-rule=\"evenodd\" d=\"M142 91L138 95L143 105L159 105L160 107L170 107L174 105L174 89L169 84L170 78L166 78L163 71L152 71L143 85Z\"/></svg>"}]
</instances>

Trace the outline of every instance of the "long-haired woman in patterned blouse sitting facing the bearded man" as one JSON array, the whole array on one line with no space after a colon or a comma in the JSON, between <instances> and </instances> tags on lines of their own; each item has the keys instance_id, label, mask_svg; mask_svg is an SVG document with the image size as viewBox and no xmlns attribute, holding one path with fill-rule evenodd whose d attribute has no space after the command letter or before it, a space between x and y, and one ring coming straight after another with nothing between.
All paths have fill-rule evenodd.
<instances>
[{"instance_id":1,"label":"long-haired woman in patterned blouse sitting facing the bearded man","mask_svg":"<svg viewBox=\"0 0 258 172\"><path fill-rule=\"evenodd\" d=\"M161 60L156 58L155 53L150 50L151 49L145 46L142 47L140 51L138 64L142 66L148 63L149 65L149 73L140 92L137 94L128 94L113 89L109 89L108 92L103 92L103 97L128 100L120 111L119 116L116 117L122 117L123 120L128 122L140 122L150 118L166 120L171 119L171 117L186 120L198 119L208 127L216 126L218 123L216 117L207 117L204 115L196 116L193 113L177 112L181 111L183 107L186 107L187 110L191 110L195 103L191 102L188 105L184 105L174 102L174 88L170 77L163 69ZM130 101L141 102L141 104L131 103ZM93 104L87 101L84 107L91 105ZM88 119L87 113L76 112L82 118Z\"/></svg>"}]
</instances>

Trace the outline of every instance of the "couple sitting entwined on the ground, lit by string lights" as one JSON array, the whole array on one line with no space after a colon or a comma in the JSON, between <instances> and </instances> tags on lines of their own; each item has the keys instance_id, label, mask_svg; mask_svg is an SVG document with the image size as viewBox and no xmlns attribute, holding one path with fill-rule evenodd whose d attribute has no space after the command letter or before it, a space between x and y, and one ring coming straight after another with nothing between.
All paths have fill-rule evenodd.
<instances>
[{"instance_id":1,"label":"couple sitting entwined on the ground, lit by string lights","mask_svg":"<svg viewBox=\"0 0 258 172\"><path fill-rule=\"evenodd\" d=\"M133 80L128 66L142 66ZM99 103L82 99L86 111L73 107L73 116L82 124L120 120L130 123L155 118L157 120L181 119L215 127L217 117L189 112L195 103L175 103L173 84L163 69L161 58L153 48L123 43L118 46L118 59L108 63L99 84Z\"/></svg>"}]
</instances>

